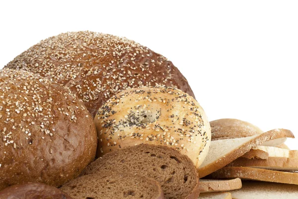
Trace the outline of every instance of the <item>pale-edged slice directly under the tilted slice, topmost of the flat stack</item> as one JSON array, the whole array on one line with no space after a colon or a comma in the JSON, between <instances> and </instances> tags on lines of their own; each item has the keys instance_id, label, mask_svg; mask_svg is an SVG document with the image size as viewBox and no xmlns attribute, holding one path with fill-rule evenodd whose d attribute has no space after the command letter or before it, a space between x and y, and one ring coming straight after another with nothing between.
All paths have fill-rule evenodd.
<instances>
[{"instance_id":1,"label":"pale-edged slice directly under the tilted slice, topmost of the flat stack","mask_svg":"<svg viewBox=\"0 0 298 199\"><path fill-rule=\"evenodd\" d=\"M244 154L242 158L247 159L264 159L268 157L284 157L284 158L298 158L297 150L288 150L272 146L257 146L252 148L249 152Z\"/></svg>"}]
</instances>

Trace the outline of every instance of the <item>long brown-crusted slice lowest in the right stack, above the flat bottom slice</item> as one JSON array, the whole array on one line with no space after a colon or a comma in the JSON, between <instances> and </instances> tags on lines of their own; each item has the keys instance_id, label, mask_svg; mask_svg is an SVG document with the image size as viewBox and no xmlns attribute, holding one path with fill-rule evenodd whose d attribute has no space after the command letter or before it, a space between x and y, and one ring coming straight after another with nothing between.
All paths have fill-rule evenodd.
<instances>
[{"instance_id":1,"label":"long brown-crusted slice lowest in the right stack, above the flat bottom slice","mask_svg":"<svg viewBox=\"0 0 298 199\"><path fill-rule=\"evenodd\" d=\"M224 167L208 177L213 179L241 178L241 180L256 180L298 185L297 172L272 171L250 167Z\"/></svg>"}]
</instances>

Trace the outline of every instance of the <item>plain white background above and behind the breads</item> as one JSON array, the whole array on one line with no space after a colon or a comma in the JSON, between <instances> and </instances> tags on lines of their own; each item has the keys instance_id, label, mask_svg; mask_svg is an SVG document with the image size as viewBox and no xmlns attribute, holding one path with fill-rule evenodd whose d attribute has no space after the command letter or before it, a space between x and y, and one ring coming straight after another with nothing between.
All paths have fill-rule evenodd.
<instances>
[{"instance_id":1,"label":"plain white background above and behind the breads","mask_svg":"<svg viewBox=\"0 0 298 199\"><path fill-rule=\"evenodd\" d=\"M298 137L298 1L1 0L0 68L42 39L77 30L125 36L166 56L209 120Z\"/></svg>"}]
</instances>

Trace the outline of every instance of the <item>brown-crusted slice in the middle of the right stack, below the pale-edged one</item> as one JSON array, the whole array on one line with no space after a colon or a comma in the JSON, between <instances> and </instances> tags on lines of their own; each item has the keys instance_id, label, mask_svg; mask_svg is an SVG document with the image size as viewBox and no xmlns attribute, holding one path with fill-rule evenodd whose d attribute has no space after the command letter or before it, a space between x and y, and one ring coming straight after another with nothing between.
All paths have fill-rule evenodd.
<instances>
[{"instance_id":1,"label":"brown-crusted slice in the middle of the right stack, below the pale-edged one","mask_svg":"<svg viewBox=\"0 0 298 199\"><path fill-rule=\"evenodd\" d=\"M226 167L252 167L277 171L298 171L298 158L269 157L268 160L238 158Z\"/></svg>"}]
</instances>

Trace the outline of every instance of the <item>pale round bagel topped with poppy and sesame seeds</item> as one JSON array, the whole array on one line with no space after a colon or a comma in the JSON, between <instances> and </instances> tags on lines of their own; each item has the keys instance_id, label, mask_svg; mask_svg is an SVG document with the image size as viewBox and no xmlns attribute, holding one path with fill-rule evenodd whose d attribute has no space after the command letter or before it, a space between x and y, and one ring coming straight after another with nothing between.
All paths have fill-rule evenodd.
<instances>
[{"instance_id":1,"label":"pale round bagel topped with poppy and sesame seeds","mask_svg":"<svg viewBox=\"0 0 298 199\"><path fill-rule=\"evenodd\" d=\"M143 87L118 93L94 118L100 157L141 143L166 145L187 155L198 168L211 132L207 116L193 97L170 87Z\"/></svg>"}]
</instances>

